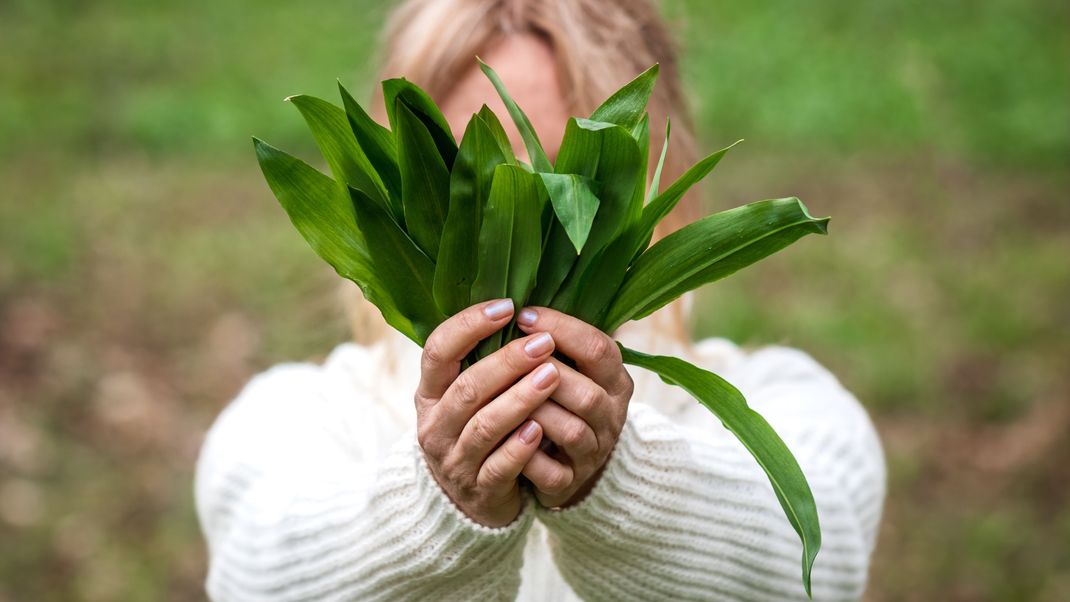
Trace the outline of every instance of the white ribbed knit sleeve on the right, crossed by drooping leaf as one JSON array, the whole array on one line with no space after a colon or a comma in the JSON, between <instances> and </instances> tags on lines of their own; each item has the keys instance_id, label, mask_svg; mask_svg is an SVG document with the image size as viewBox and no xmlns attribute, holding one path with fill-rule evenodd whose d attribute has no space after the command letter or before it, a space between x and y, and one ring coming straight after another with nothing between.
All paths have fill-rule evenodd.
<instances>
[{"instance_id":1,"label":"white ribbed knit sleeve on the right, crossed by drooping leaf","mask_svg":"<svg viewBox=\"0 0 1070 602\"><path fill-rule=\"evenodd\" d=\"M813 490L823 536L814 600L860 599L885 494L866 412L800 352L759 352L725 375L784 438ZM807 599L801 543L771 485L705 412L696 404L669 417L633 401L592 493L537 510L557 569L583 599Z\"/></svg>"}]
</instances>

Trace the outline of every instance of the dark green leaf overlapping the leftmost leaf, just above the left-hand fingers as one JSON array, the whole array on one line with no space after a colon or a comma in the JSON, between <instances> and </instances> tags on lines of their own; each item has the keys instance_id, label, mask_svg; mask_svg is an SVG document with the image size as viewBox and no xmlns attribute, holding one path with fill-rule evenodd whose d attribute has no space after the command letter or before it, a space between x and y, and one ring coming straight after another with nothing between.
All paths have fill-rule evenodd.
<instances>
[{"instance_id":1,"label":"dark green leaf overlapping the leftmost leaf, just above the left-hand fingers","mask_svg":"<svg viewBox=\"0 0 1070 602\"><path fill-rule=\"evenodd\" d=\"M352 187L349 194L376 275L412 322L415 340L423 345L431 330L446 319L434 305L434 263L367 195Z\"/></svg>"}]
</instances>

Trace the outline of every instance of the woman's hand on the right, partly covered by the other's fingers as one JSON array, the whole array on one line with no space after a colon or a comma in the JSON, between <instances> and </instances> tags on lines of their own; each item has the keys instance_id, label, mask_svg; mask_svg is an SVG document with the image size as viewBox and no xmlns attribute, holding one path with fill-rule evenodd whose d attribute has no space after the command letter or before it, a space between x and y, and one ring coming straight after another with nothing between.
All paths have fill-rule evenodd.
<instances>
[{"instance_id":1,"label":"woman's hand on the right, partly covered by the other's fingers","mask_svg":"<svg viewBox=\"0 0 1070 602\"><path fill-rule=\"evenodd\" d=\"M581 320L529 307L517 315L517 324L526 334L550 333L557 352L576 362L570 368L551 360L561 383L552 401L531 416L561 453L540 449L523 469L542 506L568 507L591 492L616 445L628 414L631 376L613 339Z\"/></svg>"}]
</instances>

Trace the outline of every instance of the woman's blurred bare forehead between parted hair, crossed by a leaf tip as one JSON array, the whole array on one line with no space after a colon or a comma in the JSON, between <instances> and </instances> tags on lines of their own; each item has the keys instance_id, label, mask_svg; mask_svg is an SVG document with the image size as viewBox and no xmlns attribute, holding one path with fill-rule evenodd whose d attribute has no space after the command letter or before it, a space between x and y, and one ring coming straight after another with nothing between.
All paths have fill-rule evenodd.
<instances>
[{"instance_id":1,"label":"woman's blurred bare forehead between parted hair, crossed by a leaf tip","mask_svg":"<svg viewBox=\"0 0 1070 602\"><path fill-rule=\"evenodd\" d=\"M550 45L536 35L518 33L487 48L482 58L498 72L509 94L528 114L547 154L556 156L569 111ZM517 155L526 157L520 133L494 87L473 60L472 67L440 99L440 106L454 134L460 137L472 113L485 104L502 121Z\"/></svg>"}]
</instances>

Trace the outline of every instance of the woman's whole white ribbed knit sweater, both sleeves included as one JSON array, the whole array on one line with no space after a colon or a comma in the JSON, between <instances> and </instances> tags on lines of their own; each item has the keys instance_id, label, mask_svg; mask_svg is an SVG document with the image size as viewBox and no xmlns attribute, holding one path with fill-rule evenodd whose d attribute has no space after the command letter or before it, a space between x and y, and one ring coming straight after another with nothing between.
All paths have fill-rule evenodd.
<instances>
[{"instance_id":1,"label":"woman's whole white ribbed knit sweater, both sleeves included","mask_svg":"<svg viewBox=\"0 0 1070 602\"><path fill-rule=\"evenodd\" d=\"M813 489L814 600L858 600L885 496L869 417L806 354L684 348L631 324L625 344L736 385ZM214 600L806 600L801 544L764 473L685 391L632 370L606 470L561 511L532 497L503 528L469 520L415 441L419 349L343 344L323 366L254 379L208 434L197 510Z\"/></svg>"}]
</instances>

